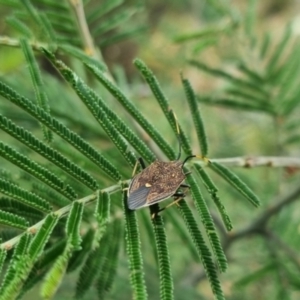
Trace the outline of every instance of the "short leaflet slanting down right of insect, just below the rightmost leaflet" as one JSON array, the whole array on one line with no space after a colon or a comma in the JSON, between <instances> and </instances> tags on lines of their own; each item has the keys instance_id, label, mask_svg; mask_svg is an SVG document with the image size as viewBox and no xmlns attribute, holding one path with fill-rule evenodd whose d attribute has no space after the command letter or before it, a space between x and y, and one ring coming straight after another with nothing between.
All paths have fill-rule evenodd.
<instances>
[{"instance_id":1,"label":"short leaflet slanting down right of insect, just below the rightmost leaflet","mask_svg":"<svg viewBox=\"0 0 300 300\"><path fill-rule=\"evenodd\" d=\"M197 170L197 173L200 175L204 186L206 187L207 191L209 192L209 194L211 195L217 209L220 212L220 215L222 217L222 220L226 226L226 229L228 231L230 231L232 229L232 222L230 220L230 217L226 211L225 206L223 205L223 203L220 201L219 196L218 196L218 189L215 186L215 184L213 183L213 181L211 180L211 178L208 176L208 174L204 171L204 169L202 167L200 167L199 165L195 164L195 168Z\"/></svg>"}]
</instances>

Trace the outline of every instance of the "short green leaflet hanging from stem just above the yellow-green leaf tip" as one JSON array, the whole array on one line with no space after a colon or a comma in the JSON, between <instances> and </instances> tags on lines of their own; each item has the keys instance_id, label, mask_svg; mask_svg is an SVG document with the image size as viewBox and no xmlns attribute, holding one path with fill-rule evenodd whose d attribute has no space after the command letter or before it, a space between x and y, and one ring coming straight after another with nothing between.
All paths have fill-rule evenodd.
<instances>
[{"instance_id":1,"label":"short green leaflet hanging from stem just above the yellow-green leaf tip","mask_svg":"<svg viewBox=\"0 0 300 300\"><path fill-rule=\"evenodd\" d=\"M69 243L74 247L74 250L80 250L82 238L80 235L80 225L82 221L84 205L78 201L74 201L70 210L66 233Z\"/></svg>"}]
</instances>

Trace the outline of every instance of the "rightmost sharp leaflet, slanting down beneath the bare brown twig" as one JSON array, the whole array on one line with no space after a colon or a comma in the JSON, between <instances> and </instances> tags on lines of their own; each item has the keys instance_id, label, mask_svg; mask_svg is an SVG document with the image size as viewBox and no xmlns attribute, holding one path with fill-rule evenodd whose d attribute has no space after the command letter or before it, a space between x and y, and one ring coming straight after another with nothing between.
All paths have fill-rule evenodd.
<instances>
[{"instance_id":1,"label":"rightmost sharp leaflet, slanting down beneath the bare brown twig","mask_svg":"<svg viewBox=\"0 0 300 300\"><path fill-rule=\"evenodd\" d=\"M231 186L240 192L246 199L248 199L255 207L260 205L258 197L254 192L234 173L226 167L216 162L210 162L208 165L214 172L223 177Z\"/></svg>"}]
</instances>

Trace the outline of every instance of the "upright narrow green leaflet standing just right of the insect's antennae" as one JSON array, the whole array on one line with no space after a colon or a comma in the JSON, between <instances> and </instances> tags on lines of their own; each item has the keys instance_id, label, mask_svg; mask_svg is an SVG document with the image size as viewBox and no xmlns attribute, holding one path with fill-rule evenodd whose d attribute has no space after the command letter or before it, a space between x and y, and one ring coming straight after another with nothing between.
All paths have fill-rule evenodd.
<instances>
[{"instance_id":1,"label":"upright narrow green leaflet standing just right of the insect's antennae","mask_svg":"<svg viewBox=\"0 0 300 300\"><path fill-rule=\"evenodd\" d=\"M181 81L184 87L185 95L188 100L190 112L193 118L195 130L197 133L197 137L201 149L201 154L202 156L206 156L208 153L208 144L207 144L204 124L196 101L196 95L194 93L194 90L190 82L187 79L181 77Z\"/></svg>"}]
</instances>

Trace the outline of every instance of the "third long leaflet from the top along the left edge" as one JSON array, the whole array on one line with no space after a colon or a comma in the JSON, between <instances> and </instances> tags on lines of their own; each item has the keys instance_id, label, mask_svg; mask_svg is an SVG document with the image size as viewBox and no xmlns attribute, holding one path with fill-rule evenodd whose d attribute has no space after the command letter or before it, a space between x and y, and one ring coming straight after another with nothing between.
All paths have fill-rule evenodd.
<instances>
[{"instance_id":1,"label":"third long leaflet from the top along the left edge","mask_svg":"<svg viewBox=\"0 0 300 300\"><path fill-rule=\"evenodd\" d=\"M35 163L27 156L17 152L8 145L5 145L0 141L0 156L4 157L14 165L22 168L24 171L33 175L37 179L46 183L65 197L70 200L77 198L77 195L73 188L61 181L55 174L50 172L48 169L42 167L40 164Z\"/></svg>"}]
</instances>

